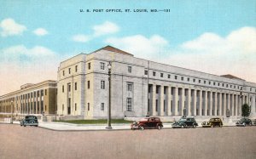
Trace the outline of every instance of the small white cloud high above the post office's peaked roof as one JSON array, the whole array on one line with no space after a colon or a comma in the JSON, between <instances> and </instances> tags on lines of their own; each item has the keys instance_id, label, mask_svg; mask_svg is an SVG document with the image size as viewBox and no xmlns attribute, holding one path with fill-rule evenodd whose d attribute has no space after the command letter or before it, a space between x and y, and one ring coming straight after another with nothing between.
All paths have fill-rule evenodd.
<instances>
[{"instance_id":1,"label":"small white cloud high above the post office's peaked roof","mask_svg":"<svg viewBox=\"0 0 256 159\"><path fill-rule=\"evenodd\" d=\"M101 25L93 26L94 36L103 36L107 34L113 34L119 31L119 26L110 21L105 21Z\"/></svg>"}]
</instances>

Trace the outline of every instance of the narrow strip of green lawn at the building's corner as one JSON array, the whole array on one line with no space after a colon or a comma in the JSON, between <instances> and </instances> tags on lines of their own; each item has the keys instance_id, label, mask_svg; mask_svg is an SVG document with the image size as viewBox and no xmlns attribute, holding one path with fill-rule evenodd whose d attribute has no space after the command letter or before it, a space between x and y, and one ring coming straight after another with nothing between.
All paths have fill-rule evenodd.
<instances>
[{"instance_id":1,"label":"narrow strip of green lawn at the building's corner","mask_svg":"<svg viewBox=\"0 0 256 159\"><path fill-rule=\"evenodd\" d=\"M67 122L75 124L96 124L96 123L106 123L107 119L98 119L98 120L70 120L70 121L55 121L55 122ZM124 119L111 119L111 123L131 123L132 121L125 121Z\"/></svg>"}]
</instances>

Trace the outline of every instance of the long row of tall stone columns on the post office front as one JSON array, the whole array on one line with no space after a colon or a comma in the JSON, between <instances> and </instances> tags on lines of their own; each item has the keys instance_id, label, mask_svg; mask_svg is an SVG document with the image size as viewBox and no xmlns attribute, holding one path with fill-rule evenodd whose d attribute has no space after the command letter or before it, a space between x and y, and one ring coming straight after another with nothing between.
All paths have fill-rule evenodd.
<instances>
[{"instance_id":1,"label":"long row of tall stone columns on the post office front","mask_svg":"<svg viewBox=\"0 0 256 159\"><path fill-rule=\"evenodd\" d=\"M241 116L247 96L219 88L148 85L151 116Z\"/></svg>"}]
</instances>

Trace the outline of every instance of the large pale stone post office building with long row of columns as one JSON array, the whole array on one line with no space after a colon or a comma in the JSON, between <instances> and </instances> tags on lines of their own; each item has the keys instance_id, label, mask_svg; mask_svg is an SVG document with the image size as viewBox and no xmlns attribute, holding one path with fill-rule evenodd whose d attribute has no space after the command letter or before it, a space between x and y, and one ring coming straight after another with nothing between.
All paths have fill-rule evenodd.
<instances>
[{"instance_id":1,"label":"large pale stone post office building with long row of columns","mask_svg":"<svg viewBox=\"0 0 256 159\"><path fill-rule=\"evenodd\" d=\"M107 118L108 64L112 116L241 116L241 105L256 115L256 83L138 59L107 46L61 62L57 114Z\"/></svg>"}]
</instances>

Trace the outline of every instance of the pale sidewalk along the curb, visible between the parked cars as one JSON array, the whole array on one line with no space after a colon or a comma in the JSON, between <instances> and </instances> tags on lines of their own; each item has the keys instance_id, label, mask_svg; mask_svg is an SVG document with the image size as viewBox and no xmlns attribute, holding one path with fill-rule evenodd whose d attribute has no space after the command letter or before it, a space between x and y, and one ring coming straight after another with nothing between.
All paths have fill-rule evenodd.
<instances>
[{"instance_id":1,"label":"pale sidewalk along the curb, visible between the parked cars","mask_svg":"<svg viewBox=\"0 0 256 159\"><path fill-rule=\"evenodd\" d=\"M9 123L9 122L0 122ZM14 124L20 124L20 122L15 121ZM172 123L163 123L164 128L172 128ZM201 121L198 121L198 127L201 128ZM224 122L224 127L236 126L235 122ZM109 130L106 129L106 124L73 124L67 122L39 122L38 127L47 128L55 131L95 131L95 130ZM129 123L113 123L112 130L129 130L131 129L131 124Z\"/></svg>"}]
</instances>

